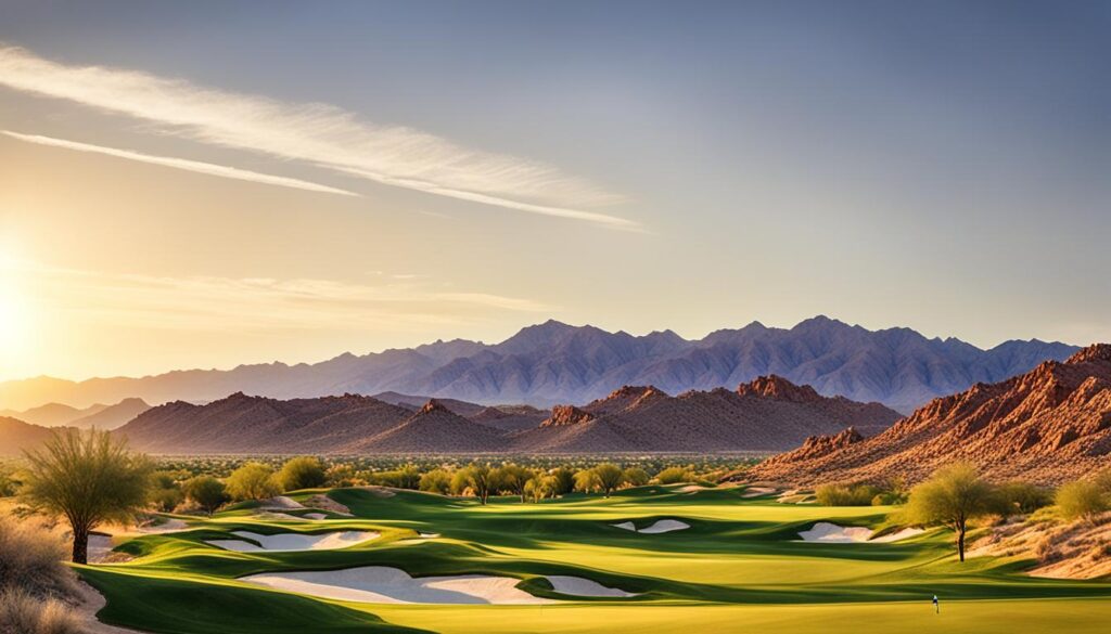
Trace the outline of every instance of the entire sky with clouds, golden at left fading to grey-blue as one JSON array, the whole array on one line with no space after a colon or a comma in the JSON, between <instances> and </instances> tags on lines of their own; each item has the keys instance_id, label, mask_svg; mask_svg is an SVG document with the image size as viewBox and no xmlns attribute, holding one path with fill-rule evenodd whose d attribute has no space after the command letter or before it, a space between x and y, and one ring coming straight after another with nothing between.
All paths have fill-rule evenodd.
<instances>
[{"instance_id":1,"label":"entire sky with clouds, golden at left fading to grey-blue","mask_svg":"<svg viewBox=\"0 0 1111 634\"><path fill-rule=\"evenodd\" d=\"M550 318L1111 341L1109 32L1080 1L9 0L0 380Z\"/></svg>"}]
</instances>

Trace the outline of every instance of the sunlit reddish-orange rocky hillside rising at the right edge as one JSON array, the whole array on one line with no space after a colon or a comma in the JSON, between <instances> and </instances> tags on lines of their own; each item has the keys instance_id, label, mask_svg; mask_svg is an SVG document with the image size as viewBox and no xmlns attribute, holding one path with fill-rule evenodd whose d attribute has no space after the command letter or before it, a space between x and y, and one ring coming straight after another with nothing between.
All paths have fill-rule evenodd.
<instances>
[{"instance_id":1,"label":"sunlit reddish-orange rocky hillside rising at the right edge","mask_svg":"<svg viewBox=\"0 0 1111 634\"><path fill-rule=\"evenodd\" d=\"M887 431L808 439L745 474L794 484L922 480L967 461L995 480L1060 483L1111 467L1111 344L935 399Z\"/></svg>"}]
</instances>

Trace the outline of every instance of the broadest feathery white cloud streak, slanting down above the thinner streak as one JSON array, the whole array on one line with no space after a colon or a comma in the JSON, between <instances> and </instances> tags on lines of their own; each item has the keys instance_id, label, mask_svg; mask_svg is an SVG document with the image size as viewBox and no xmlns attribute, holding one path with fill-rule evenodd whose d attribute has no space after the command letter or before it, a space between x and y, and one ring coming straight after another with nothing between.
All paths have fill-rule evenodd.
<instances>
[{"instance_id":1,"label":"broadest feathery white cloud streak, slanting down above the thinner streak","mask_svg":"<svg viewBox=\"0 0 1111 634\"><path fill-rule=\"evenodd\" d=\"M66 66L18 47L0 47L0 84L128 114L167 133L388 185L639 229L634 221L591 210L622 197L551 165L462 148L410 128L374 125L333 105L286 103L139 71Z\"/></svg>"}]
</instances>

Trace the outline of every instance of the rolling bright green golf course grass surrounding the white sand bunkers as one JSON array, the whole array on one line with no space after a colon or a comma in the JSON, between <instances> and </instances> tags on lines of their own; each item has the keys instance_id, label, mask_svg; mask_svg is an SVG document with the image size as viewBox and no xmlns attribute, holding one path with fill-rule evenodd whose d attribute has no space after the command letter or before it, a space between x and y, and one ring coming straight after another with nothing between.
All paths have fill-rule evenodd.
<instances>
[{"instance_id":1,"label":"rolling bright green golf course grass surrounding the white sand bunkers","mask_svg":"<svg viewBox=\"0 0 1111 634\"><path fill-rule=\"evenodd\" d=\"M308 500L320 491L292 495ZM818 521L880 526L889 507L823 507L744 499L742 490L684 493L648 486L522 504L362 489L327 492L354 514L299 522L240 507L188 531L147 535L119 550L131 562L82 566L107 597L102 620L159 633L520 632L1095 632L1111 616L1111 583L1022 574L1028 562L955 561L951 535L894 543L799 541ZM292 513L304 513L293 511ZM186 519L182 516L182 519ZM685 530L649 534L660 520ZM206 543L260 534L374 531L342 550L231 552ZM418 532L436 533L419 539ZM481 574L521 580L544 605L383 604L317 598L239 580L288 571L390 566L412 576ZM565 575L634 593L554 593ZM941 614L930 597L941 596Z\"/></svg>"}]
</instances>

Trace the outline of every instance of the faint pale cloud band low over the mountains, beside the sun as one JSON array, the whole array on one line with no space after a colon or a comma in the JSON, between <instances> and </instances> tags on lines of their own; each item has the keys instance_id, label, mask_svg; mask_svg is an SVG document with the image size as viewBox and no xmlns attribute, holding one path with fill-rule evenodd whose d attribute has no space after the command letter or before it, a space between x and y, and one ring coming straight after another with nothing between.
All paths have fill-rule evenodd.
<instances>
[{"instance_id":1,"label":"faint pale cloud band low over the mountains, beside the sun","mask_svg":"<svg viewBox=\"0 0 1111 634\"><path fill-rule=\"evenodd\" d=\"M117 326L188 331L264 332L410 328L498 312L543 312L553 306L482 292L443 292L428 283L382 284L336 280L160 276L14 266L52 312Z\"/></svg>"}]
</instances>

